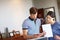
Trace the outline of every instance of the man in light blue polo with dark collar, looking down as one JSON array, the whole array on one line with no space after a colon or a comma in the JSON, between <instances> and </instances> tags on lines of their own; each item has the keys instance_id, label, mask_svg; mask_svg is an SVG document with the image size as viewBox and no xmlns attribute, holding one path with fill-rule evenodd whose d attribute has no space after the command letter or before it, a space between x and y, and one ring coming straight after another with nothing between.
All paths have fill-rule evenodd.
<instances>
[{"instance_id":1,"label":"man in light blue polo with dark collar, looking down","mask_svg":"<svg viewBox=\"0 0 60 40\"><path fill-rule=\"evenodd\" d=\"M45 35L45 32L39 33L41 21L37 18L37 9L30 8L30 16L23 22L23 37L25 39L38 38Z\"/></svg>"}]
</instances>

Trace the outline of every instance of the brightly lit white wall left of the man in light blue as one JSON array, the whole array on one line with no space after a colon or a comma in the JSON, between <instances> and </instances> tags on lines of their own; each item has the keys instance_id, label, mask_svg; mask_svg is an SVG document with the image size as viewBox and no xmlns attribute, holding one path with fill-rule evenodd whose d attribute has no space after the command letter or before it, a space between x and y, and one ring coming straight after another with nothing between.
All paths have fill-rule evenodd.
<instances>
[{"instance_id":1,"label":"brightly lit white wall left of the man in light blue","mask_svg":"<svg viewBox=\"0 0 60 40\"><path fill-rule=\"evenodd\" d=\"M22 23L29 16L32 0L0 0L0 31L6 27L9 32L19 30L22 33Z\"/></svg>"}]
</instances>

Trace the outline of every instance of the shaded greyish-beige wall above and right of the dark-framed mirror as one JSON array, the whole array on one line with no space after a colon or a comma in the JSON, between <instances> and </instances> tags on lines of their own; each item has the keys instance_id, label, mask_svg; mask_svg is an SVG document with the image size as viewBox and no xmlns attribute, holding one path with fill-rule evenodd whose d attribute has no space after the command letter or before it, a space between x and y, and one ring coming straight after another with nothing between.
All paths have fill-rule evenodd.
<instances>
[{"instance_id":1,"label":"shaded greyish-beige wall above and right of the dark-framed mirror","mask_svg":"<svg viewBox=\"0 0 60 40\"><path fill-rule=\"evenodd\" d=\"M59 22L59 12L57 0L33 0L34 6L37 8L55 7L56 19Z\"/></svg>"}]
</instances>

